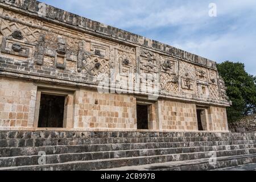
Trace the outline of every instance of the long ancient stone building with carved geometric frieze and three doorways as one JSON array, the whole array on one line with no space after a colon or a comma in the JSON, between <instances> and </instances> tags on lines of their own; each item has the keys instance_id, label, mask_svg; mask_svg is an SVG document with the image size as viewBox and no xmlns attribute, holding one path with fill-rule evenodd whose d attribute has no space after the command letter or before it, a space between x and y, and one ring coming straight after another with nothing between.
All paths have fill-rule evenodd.
<instances>
[{"instance_id":1,"label":"long ancient stone building with carved geometric frieze and three doorways","mask_svg":"<svg viewBox=\"0 0 256 182\"><path fill-rule=\"evenodd\" d=\"M34 0L0 44L0 130L228 131L214 61Z\"/></svg>"}]
</instances>

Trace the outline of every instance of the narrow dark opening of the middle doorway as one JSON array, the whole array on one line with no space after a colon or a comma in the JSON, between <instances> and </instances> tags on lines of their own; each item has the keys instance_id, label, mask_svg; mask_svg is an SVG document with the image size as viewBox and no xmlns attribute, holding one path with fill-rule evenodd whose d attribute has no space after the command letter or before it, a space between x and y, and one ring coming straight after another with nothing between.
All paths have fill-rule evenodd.
<instances>
[{"instance_id":1,"label":"narrow dark opening of the middle doorway","mask_svg":"<svg viewBox=\"0 0 256 182\"><path fill-rule=\"evenodd\" d=\"M147 105L137 105L137 129L148 130Z\"/></svg>"}]
</instances>

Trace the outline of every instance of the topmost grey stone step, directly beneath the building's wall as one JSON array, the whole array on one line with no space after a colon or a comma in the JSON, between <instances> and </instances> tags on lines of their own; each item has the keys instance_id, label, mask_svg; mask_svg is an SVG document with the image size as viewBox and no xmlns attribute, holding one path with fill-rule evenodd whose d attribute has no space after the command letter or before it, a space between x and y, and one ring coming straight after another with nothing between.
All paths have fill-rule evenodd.
<instances>
[{"instance_id":1,"label":"topmost grey stone step, directly beneath the building's wall","mask_svg":"<svg viewBox=\"0 0 256 182\"><path fill-rule=\"evenodd\" d=\"M146 137L256 137L256 133L125 132L125 131L0 131L6 138L146 138Z\"/></svg>"}]
</instances>

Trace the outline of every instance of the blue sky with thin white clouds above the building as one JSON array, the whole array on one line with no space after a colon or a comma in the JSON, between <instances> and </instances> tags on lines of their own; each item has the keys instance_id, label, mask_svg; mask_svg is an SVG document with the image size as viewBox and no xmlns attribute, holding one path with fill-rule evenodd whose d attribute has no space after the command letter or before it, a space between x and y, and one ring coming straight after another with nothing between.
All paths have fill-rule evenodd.
<instances>
[{"instance_id":1,"label":"blue sky with thin white clouds above the building","mask_svg":"<svg viewBox=\"0 0 256 182\"><path fill-rule=\"evenodd\" d=\"M39 0L256 75L255 0ZM210 17L209 3L217 5Z\"/></svg>"}]
</instances>

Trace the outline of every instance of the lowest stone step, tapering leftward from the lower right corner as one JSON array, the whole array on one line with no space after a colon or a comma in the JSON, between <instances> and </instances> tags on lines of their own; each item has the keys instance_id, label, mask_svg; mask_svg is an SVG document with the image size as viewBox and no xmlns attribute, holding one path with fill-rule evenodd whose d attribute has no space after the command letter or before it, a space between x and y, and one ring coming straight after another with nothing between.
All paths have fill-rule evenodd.
<instances>
[{"instance_id":1,"label":"lowest stone step, tapering leftward from the lower right corner","mask_svg":"<svg viewBox=\"0 0 256 182\"><path fill-rule=\"evenodd\" d=\"M101 169L104 171L207 171L244 164L256 163L256 154L224 156L216 158L216 164L210 164L209 159L183 160L167 163L146 164L141 166L126 166ZM101 171L100 170L100 171Z\"/></svg>"}]
</instances>

